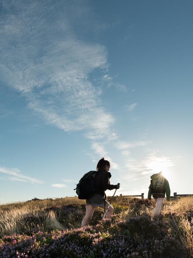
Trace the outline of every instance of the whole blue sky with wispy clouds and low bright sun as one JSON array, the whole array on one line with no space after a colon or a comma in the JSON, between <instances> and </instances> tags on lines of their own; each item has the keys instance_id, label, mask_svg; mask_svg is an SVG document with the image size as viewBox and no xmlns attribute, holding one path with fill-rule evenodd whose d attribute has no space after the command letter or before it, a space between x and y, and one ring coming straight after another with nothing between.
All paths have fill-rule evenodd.
<instances>
[{"instance_id":1,"label":"whole blue sky with wispy clouds and low bright sun","mask_svg":"<svg viewBox=\"0 0 193 258\"><path fill-rule=\"evenodd\" d=\"M102 156L118 194L193 193L192 8L1 2L0 203L74 196Z\"/></svg>"}]
</instances>

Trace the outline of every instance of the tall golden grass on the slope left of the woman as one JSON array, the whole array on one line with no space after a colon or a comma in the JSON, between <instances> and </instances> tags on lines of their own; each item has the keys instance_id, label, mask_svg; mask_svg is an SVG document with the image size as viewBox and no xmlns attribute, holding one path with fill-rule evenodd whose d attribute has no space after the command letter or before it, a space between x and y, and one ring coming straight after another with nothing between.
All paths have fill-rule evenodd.
<instances>
[{"instance_id":1,"label":"tall golden grass on the slope left of the woman","mask_svg":"<svg viewBox=\"0 0 193 258\"><path fill-rule=\"evenodd\" d=\"M45 209L52 206L69 204L81 205L84 203L84 200L79 200L77 197L74 197L57 198L55 200L32 200L30 202L15 202L0 205L0 237L4 235L22 234L27 231L30 233L33 230L62 230L65 227L65 223L62 225L58 221L54 211L45 211ZM36 221L26 221L28 217L35 217Z\"/></svg>"}]
</instances>

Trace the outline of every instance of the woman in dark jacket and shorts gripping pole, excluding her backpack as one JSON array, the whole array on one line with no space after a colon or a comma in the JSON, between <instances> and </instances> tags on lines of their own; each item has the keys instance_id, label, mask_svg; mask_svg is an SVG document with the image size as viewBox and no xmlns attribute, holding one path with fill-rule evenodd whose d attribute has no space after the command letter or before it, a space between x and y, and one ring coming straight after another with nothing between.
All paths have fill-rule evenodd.
<instances>
[{"instance_id":1,"label":"woman in dark jacket and shorts gripping pole, excluding her backpack","mask_svg":"<svg viewBox=\"0 0 193 258\"><path fill-rule=\"evenodd\" d=\"M82 220L82 227L86 226L88 221L93 215L95 208L98 206L101 208L108 207L109 203L106 201L105 191L112 189L119 189L120 185L110 185L109 178L111 178L111 173L109 172L110 162L102 158L99 160L96 166L96 176L94 178L94 195L86 199L86 215ZM113 214L113 207L110 205L106 214L106 218L111 218Z\"/></svg>"}]
</instances>

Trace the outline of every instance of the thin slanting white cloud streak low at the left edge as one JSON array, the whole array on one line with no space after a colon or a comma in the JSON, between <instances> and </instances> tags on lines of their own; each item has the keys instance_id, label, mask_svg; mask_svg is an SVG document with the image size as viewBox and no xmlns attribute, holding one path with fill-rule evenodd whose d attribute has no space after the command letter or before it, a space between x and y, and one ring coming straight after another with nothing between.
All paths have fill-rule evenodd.
<instances>
[{"instance_id":1,"label":"thin slanting white cloud streak low at the left edge","mask_svg":"<svg viewBox=\"0 0 193 258\"><path fill-rule=\"evenodd\" d=\"M23 180L26 180L27 182L43 184L43 182L41 182L38 179L34 179L30 176L25 176L25 175L21 174L21 171L17 168L6 168L6 167L0 166L0 172L16 176L16 179L18 179L18 180L20 179L19 181L21 181L21 179L23 179ZM11 179L11 180L13 180L13 179Z\"/></svg>"}]
</instances>

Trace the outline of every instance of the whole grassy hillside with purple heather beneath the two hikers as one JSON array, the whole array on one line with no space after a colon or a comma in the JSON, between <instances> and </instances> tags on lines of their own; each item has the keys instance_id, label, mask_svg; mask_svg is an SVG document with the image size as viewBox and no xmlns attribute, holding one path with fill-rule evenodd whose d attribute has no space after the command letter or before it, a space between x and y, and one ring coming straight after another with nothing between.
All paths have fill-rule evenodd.
<instances>
[{"instance_id":1,"label":"whole grassy hillside with purple heather beneath the two hikers","mask_svg":"<svg viewBox=\"0 0 193 258\"><path fill-rule=\"evenodd\" d=\"M115 197L112 219L96 208L80 228L85 200L58 198L0 206L0 257L193 257L193 197L163 203Z\"/></svg>"}]
</instances>

